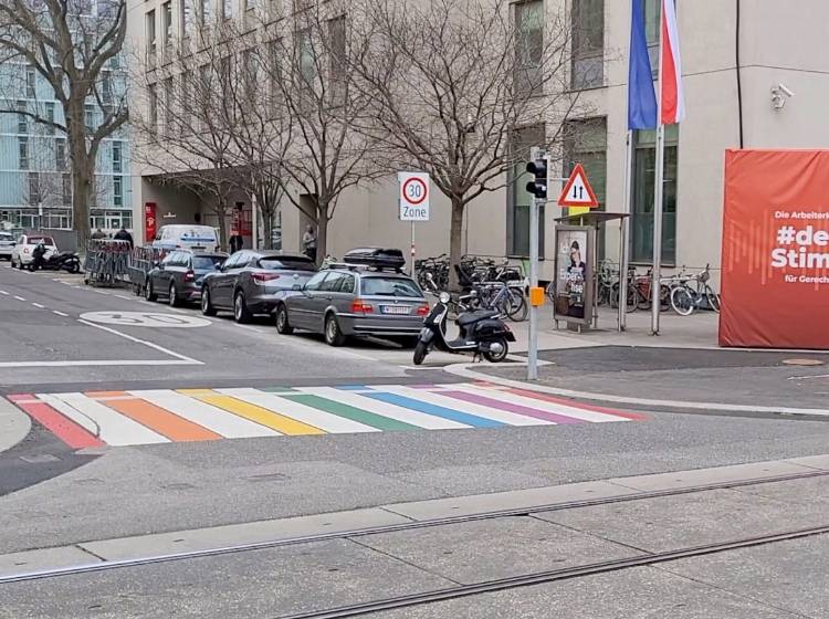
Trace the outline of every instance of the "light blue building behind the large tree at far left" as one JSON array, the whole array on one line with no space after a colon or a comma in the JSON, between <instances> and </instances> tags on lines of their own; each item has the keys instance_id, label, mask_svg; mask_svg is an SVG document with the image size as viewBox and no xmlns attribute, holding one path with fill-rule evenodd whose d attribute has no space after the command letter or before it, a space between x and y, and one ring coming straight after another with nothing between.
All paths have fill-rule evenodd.
<instances>
[{"instance_id":1,"label":"light blue building behind the large tree at far left","mask_svg":"<svg viewBox=\"0 0 829 619\"><path fill-rule=\"evenodd\" d=\"M124 59L111 61L104 73L102 104L119 101L126 92ZM0 65L0 107L28 112L64 123L54 91L32 66ZM86 105L86 124L103 119L101 105ZM122 128L102 144L90 208L92 229L133 228L132 176L128 129ZM27 114L0 114L0 224L29 230L72 228L72 161L66 136L56 127Z\"/></svg>"}]
</instances>

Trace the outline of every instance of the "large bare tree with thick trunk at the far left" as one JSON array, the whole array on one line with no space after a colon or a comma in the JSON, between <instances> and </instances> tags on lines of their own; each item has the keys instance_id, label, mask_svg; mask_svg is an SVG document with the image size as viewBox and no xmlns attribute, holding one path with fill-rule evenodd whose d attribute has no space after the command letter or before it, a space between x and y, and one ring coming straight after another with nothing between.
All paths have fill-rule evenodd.
<instances>
[{"instance_id":1,"label":"large bare tree with thick trunk at the far left","mask_svg":"<svg viewBox=\"0 0 829 619\"><path fill-rule=\"evenodd\" d=\"M128 116L125 94L114 87L120 70L113 65L124 44L126 12L125 0L0 2L0 64L22 67L27 87L30 77L25 67L36 72L63 107L64 122L42 114L42 106L22 113L66 135L73 227L82 245L90 232L90 202L101 145ZM6 86L15 86L15 91L20 84L12 80ZM10 102L15 95L8 94L3 98ZM21 113L8 107L2 112Z\"/></svg>"}]
</instances>

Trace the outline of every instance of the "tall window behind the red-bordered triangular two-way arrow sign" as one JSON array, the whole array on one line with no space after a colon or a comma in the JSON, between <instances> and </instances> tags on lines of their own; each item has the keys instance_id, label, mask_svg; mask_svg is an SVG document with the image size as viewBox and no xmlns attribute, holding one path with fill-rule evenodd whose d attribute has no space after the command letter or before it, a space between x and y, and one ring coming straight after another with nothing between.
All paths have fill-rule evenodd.
<instances>
[{"instance_id":1,"label":"tall window behind the red-bordered triangular two-way arrow sign","mask_svg":"<svg viewBox=\"0 0 829 619\"><path fill-rule=\"evenodd\" d=\"M564 174L569 177L576 164L581 164L590 186L599 200L598 210L605 210L607 186L607 122L605 118L571 120L564 128ZM605 256L605 228L597 240L599 259Z\"/></svg>"}]
</instances>

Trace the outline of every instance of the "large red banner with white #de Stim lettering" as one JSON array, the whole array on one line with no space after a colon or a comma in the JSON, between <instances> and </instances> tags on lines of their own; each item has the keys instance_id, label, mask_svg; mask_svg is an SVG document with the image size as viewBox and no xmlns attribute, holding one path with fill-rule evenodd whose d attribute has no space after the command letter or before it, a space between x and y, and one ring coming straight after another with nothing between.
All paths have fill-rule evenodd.
<instances>
[{"instance_id":1,"label":"large red banner with white #de Stim lettering","mask_svg":"<svg viewBox=\"0 0 829 619\"><path fill-rule=\"evenodd\" d=\"M829 150L728 150L722 346L829 349Z\"/></svg>"}]
</instances>

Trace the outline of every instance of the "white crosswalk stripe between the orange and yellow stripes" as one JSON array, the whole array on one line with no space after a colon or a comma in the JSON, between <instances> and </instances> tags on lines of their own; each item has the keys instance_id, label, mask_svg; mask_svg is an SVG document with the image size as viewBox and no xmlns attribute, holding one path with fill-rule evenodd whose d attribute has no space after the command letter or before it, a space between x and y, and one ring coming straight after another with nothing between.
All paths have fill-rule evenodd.
<instances>
[{"instance_id":1,"label":"white crosswalk stripe between the orange and yellow stripes","mask_svg":"<svg viewBox=\"0 0 829 619\"><path fill-rule=\"evenodd\" d=\"M169 410L228 439L280 436L275 430L169 389L128 391L128 394Z\"/></svg>"}]
</instances>

